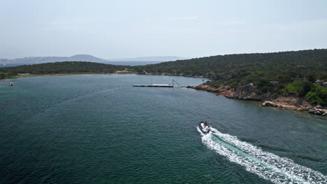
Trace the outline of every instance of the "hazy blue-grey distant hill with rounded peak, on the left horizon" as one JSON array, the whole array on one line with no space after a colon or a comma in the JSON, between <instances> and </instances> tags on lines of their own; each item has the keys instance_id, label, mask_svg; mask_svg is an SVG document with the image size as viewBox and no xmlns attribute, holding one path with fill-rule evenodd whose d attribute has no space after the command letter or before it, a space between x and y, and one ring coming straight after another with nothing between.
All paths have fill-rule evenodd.
<instances>
[{"instance_id":1,"label":"hazy blue-grey distant hill with rounded peak, on the left horizon","mask_svg":"<svg viewBox=\"0 0 327 184\"><path fill-rule=\"evenodd\" d=\"M106 59L100 59L88 54L77 54L70 57L46 56L46 57L25 57L18 59L0 59L0 63L54 63L60 61L89 61L96 63L108 62Z\"/></svg>"}]
</instances>

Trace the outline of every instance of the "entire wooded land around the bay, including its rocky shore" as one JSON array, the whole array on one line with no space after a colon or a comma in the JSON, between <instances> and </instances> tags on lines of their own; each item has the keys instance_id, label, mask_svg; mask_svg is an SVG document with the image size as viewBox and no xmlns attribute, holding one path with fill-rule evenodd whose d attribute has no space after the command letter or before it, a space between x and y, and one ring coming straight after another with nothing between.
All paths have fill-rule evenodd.
<instances>
[{"instance_id":1,"label":"entire wooded land around the bay, including its rocky shore","mask_svg":"<svg viewBox=\"0 0 327 184\"><path fill-rule=\"evenodd\" d=\"M327 116L327 49L228 54L146 66L64 61L0 68L0 80L101 74L203 77L210 81L187 87L217 93L226 98L255 100L263 106Z\"/></svg>"}]
</instances>

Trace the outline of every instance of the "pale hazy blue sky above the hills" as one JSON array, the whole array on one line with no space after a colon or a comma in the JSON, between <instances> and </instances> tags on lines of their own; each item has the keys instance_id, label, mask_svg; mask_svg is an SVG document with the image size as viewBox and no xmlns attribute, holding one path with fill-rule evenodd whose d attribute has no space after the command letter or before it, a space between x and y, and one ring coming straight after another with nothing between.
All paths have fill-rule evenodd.
<instances>
[{"instance_id":1,"label":"pale hazy blue sky above the hills","mask_svg":"<svg viewBox=\"0 0 327 184\"><path fill-rule=\"evenodd\" d=\"M327 48L326 0L0 0L0 58Z\"/></svg>"}]
</instances>

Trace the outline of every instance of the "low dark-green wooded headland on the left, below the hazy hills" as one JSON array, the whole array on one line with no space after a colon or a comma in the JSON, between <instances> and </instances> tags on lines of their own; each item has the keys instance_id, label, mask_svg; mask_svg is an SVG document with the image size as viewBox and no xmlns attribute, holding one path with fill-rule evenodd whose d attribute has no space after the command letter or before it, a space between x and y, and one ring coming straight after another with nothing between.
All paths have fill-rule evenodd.
<instances>
[{"instance_id":1,"label":"low dark-green wooded headland on the left, below the hazy hills","mask_svg":"<svg viewBox=\"0 0 327 184\"><path fill-rule=\"evenodd\" d=\"M124 70L125 68L130 68L130 66L115 66L85 61L64 61L0 68L0 72L6 72L12 75L17 75L17 73L30 73L34 75L63 73L112 73L116 70Z\"/></svg>"}]
</instances>

